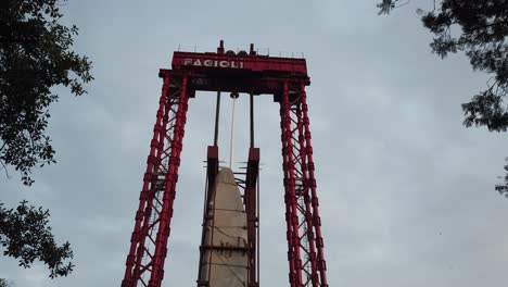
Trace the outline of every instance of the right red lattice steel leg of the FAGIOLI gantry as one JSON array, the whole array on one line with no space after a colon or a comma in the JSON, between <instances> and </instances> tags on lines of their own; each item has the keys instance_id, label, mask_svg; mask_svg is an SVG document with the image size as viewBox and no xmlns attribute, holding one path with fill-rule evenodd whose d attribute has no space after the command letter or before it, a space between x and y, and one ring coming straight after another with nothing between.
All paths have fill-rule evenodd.
<instances>
[{"instance_id":1,"label":"right red lattice steel leg of the FAGIOLI gantry","mask_svg":"<svg viewBox=\"0 0 508 287\"><path fill-rule=\"evenodd\" d=\"M294 287L328 286L305 83L285 82L283 85L280 114L290 284Z\"/></svg>"}]
</instances>

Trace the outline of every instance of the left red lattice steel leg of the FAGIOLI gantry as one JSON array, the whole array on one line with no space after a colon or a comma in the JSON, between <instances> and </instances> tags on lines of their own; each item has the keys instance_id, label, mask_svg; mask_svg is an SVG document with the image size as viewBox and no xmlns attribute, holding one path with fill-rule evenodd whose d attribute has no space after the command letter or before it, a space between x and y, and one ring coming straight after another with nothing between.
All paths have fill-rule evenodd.
<instances>
[{"instance_id":1,"label":"left red lattice steel leg of the FAGIOLI gantry","mask_svg":"<svg viewBox=\"0 0 508 287\"><path fill-rule=\"evenodd\" d=\"M164 84L123 287L158 287L162 280L188 97L187 76L178 73L161 76Z\"/></svg>"}]
</instances>

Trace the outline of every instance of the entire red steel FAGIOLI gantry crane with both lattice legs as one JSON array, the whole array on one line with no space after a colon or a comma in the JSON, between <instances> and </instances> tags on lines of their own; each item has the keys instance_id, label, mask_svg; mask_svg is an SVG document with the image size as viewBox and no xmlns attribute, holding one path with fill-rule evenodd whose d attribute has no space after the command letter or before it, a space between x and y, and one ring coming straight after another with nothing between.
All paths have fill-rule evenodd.
<instances>
[{"instance_id":1,"label":"entire red steel FAGIOLI gantry crane with both lattice legs","mask_svg":"<svg viewBox=\"0 0 508 287\"><path fill-rule=\"evenodd\" d=\"M309 116L305 87L310 85L305 59L262 55L254 51L226 51L224 41L216 52L174 52L172 70L161 70L162 95L158 101L153 138L136 212L134 232L123 287L160 287L170 235L173 207L188 101L198 90L216 91L215 140L207 150L205 210L200 266L208 250L241 252L247 257L245 287L259 286L258 252L258 166L259 149L254 147L254 96L272 95L280 104L282 169L288 240L289 283L292 287L327 287L327 266L321 236L321 219L315 177ZM251 147L246 171L236 173L243 189L246 213L246 244L211 246L205 242L205 223L213 216L206 211L219 172L217 147L220 92L250 95ZM209 253L209 252L208 252ZM196 286L217 287L206 278Z\"/></svg>"}]
</instances>

